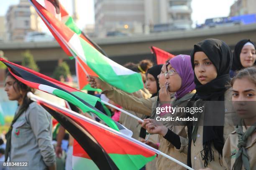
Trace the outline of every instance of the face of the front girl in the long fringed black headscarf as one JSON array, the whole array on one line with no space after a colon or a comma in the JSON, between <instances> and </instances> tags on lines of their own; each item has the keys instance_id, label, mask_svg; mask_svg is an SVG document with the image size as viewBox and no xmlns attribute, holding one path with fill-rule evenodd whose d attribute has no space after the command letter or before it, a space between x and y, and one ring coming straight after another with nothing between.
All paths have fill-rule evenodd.
<instances>
[{"instance_id":1,"label":"face of the front girl in the long fringed black headscarf","mask_svg":"<svg viewBox=\"0 0 256 170\"><path fill-rule=\"evenodd\" d=\"M204 52L195 52L194 65L195 75L202 85L205 85L207 82L217 77L216 67Z\"/></svg>"}]
</instances>

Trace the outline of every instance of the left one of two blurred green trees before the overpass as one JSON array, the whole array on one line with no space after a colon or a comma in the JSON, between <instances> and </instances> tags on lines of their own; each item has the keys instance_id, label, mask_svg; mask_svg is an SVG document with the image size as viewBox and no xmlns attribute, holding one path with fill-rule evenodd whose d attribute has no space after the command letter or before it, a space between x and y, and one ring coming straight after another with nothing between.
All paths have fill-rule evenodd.
<instances>
[{"instance_id":1,"label":"left one of two blurred green trees before the overpass","mask_svg":"<svg viewBox=\"0 0 256 170\"><path fill-rule=\"evenodd\" d=\"M35 70L37 72L39 71L39 68L34 60L34 57L29 50L26 50L25 52L21 53L21 56L23 57L21 65L23 65L24 67L28 67L32 70Z\"/></svg>"}]
</instances>

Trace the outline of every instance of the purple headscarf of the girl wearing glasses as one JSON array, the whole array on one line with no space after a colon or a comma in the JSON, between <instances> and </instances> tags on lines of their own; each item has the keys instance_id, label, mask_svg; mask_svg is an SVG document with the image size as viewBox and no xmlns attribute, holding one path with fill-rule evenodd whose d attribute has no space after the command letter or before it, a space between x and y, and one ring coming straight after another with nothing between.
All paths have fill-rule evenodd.
<instances>
[{"instance_id":1,"label":"purple headscarf of the girl wearing glasses","mask_svg":"<svg viewBox=\"0 0 256 170\"><path fill-rule=\"evenodd\" d=\"M172 67L178 72L182 79L180 89L175 93L176 99L180 99L187 93L195 90L194 71L192 69L189 55L177 55L169 60Z\"/></svg>"}]
</instances>

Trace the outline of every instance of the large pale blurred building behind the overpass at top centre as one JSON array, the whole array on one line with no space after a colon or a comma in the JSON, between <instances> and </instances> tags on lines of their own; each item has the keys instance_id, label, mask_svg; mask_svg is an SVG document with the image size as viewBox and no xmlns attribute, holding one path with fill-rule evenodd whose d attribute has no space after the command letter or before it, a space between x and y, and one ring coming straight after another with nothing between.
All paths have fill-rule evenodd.
<instances>
[{"instance_id":1,"label":"large pale blurred building behind the overpass at top centre","mask_svg":"<svg viewBox=\"0 0 256 170\"><path fill-rule=\"evenodd\" d=\"M190 29L191 13L191 0L95 0L95 28L103 36L110 31L146 33L162 24Z\"/></svg>"}]
</instances>

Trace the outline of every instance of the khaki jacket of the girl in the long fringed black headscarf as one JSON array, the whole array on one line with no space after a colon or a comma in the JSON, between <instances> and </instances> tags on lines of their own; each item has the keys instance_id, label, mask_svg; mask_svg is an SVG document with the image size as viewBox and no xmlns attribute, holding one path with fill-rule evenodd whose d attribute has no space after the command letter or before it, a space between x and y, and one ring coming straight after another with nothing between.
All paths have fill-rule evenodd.
<instances>
[{"instance_id":1,"label":"khaki jacket of the girl in the long fringed black headscarf","mask_svg":"<svg viewBox=\"0 0 256 170\"><path fill-rule=\"evenodd\" d=\"M234 112L233 111L233 107L230 104L231 101L231 97L232 97L232 91L230 89L228 89L225 92L225 122L224 122L224 131L223 131L223 137L224 137L224 142L225 140L228 138L228 135L233 132L233 130L235 129L235 127L231 124L229 124L227 120L231 120L231 115ZM199 101L199 100L197 100ZM196 104L196 103L195 103ZM202 119L199 119L198 121L202 121L199 122L199 126L198 126L198 130L197 130L197 140L195 141L195 145L192 142L191 144L191 163L192 163L192 168L195 170L201 169L201 168L205 168L204 167L204 160L202 160L202 155L201 155L201 151L203 150L203 144L202 144L202 140L203 140L203 117ZM221 157L221 155L219 155L218 151L214 148L213 145L212 146L212 150L214 152L214 161L208 161L208 166L207 168L210 168L212 170L225 170L225 167L223 166L223 159ZM218 160L220 156L220 160Z\"/></svg>"}]
</instances>

